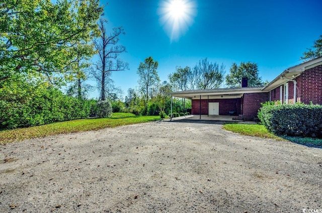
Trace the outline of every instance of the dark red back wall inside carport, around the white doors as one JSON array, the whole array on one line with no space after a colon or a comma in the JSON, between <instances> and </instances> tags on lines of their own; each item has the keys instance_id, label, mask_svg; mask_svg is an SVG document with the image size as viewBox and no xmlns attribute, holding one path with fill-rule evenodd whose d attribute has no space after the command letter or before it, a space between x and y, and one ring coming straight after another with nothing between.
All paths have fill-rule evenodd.
<instances>
[{"instance_id":1,"label":"dark red back wall inside carport, around the white doors","mask_svg":"<svg viewBox=\"0 0 322 213\"><path fill-rule=\"evenodd\" d=\"M240 114L240 98L231 98L231 99L209 99L209 102L218 102L219 103L219 115L229 115L230 111ZM192 109L191 113L193 115L199 115L200 113L200 100L192 100ZM201 100L201 114L208 115L208 100Z\"/></svg>"}]
</instances>

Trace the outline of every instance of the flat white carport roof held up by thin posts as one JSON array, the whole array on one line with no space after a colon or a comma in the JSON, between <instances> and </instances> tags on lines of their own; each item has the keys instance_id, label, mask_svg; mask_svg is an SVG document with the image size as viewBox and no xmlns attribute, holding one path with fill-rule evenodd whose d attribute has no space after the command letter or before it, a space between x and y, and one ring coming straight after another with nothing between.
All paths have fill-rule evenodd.
<instances>
[{"instance_id":1,"label":"flat white carport roof held up by thin posts","mask_svg":"<svg viewBox=\"0 0 322 213\"><path fill-rule=\"evenodd\" d=\"M205 95L243 95L244 93L262 93L262 87L238 87L238 88L219 88L207 90L185 90L171 92L170 95L178 98L193 99L197 96Z\"/></svg>"}]
</instances>

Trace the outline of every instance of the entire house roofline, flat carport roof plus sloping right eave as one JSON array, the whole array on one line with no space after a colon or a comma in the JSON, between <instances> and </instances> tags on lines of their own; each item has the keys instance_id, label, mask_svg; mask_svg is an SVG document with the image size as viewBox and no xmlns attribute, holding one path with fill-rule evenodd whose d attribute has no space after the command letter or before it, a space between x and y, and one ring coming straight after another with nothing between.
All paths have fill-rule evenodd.
<instances>
[{"instance_id":1,"label":"entire house roofline, flat carport roof plus sloping right eave","mask_svg":"<svg viewBox=\"0 0 322 213\"><path fill-rule=\"evenodd\" d=\"M264 87L238 87L238 88L219 88L219 89L206 89L206 90L186 90L171 92L172 96L188 99L207 99L209 98L240 98L245 93L261 93L269 92L272 89L285 84L288 81L295 79L302 72L312 67L322 65L322 57L304 62L302 64L290 67L284 70L273 81ZM199 97L198 97L199 96Z\"/></svg>"}]
</instances>

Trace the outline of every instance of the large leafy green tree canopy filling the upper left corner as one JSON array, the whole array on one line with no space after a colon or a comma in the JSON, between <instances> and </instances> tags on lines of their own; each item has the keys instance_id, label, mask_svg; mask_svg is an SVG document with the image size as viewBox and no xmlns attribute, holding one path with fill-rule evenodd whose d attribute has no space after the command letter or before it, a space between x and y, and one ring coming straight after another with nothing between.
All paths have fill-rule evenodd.
<instances>
[{"instance_id":1,"label":"large leafy green tree canopy filling the upper left corner","mask_svg":"<svg viewBox=\"0 0 322 213\"><path fill-rule=\"evenodd\" d=\"M98 0L4 0L0 3L0 82L19 75L69 79L76 43L87 44L98 33L103 9ZM54 79L54 80L59 80Z\"/></svg>"}]
</instances>

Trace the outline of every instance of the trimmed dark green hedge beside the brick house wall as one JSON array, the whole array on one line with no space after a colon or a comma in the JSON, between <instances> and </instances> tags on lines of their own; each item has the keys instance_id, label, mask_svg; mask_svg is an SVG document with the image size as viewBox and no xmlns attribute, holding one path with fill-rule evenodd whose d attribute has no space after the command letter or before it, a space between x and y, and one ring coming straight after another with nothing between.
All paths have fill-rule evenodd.
<instances>
[{"instance_id":1,"label":"trimmed dark green hedge beside the brick house wall","mask_svg":"<svg viewBox=\"0 0 322 213\"><path fill-rule=\"evenodd\" d=\"M277 135L322 136L322 106L263 104L258 114L266 128Z\"/></svg>"}]
</instances>

